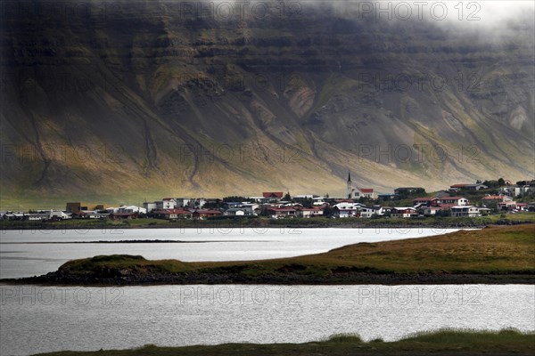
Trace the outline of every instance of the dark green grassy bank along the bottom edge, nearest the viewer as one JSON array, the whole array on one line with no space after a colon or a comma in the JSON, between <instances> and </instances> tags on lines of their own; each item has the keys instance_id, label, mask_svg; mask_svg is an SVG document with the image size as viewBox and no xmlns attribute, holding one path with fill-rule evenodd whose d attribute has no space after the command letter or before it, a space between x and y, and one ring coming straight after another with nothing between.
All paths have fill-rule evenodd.
<instances>
[{"instance_id":1,"label":"dark green grassy bank along the bottom edge, nearest the viewer","mask_svg":"<svg viewBox=\"0 0 535 356\"><path fill-rule=\"evenodd\" d=\"M535 334L515 330L471 331L443 329L408 336L396 342L381 340L363 342L356 335L336 335L328 340L306 344L220 344L215 346L157 347L146 345L133 350L99 352L52 352L41 355L154 355L154 356L304 356L304 355L531 355L535 352Z\"/></svg>"}]
</instances>

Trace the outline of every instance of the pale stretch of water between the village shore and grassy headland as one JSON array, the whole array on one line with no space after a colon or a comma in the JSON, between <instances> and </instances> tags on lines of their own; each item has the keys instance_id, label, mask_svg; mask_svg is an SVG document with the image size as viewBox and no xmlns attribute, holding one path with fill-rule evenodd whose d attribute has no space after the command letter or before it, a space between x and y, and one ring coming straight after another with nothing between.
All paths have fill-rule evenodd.
<instances>
[{"instance_id":1,"label":"pale stretch of water between the village shore and grassy headland","mask_svg":"<svg viewBox=\"0 0 535 356\"><path fill-rule=\"evenodd\" d=\"M418 227L4 230L0 231L0 278L41 275L56 271L71 259L95 255L143 255L147 259L173 258L187 262L244 261L317 254L359 242L422 238L452 231L457 230ZM183 243L128 243L134 240Z\"/></svg>"}]
</instances>

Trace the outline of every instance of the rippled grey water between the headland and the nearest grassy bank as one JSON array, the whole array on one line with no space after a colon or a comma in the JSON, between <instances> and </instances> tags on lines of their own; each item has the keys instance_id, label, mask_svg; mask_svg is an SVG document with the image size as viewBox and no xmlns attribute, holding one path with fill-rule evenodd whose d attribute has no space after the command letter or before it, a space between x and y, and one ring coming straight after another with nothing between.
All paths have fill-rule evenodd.
<instances>
[{"instance_id":1,"label":"rippled grey water between the headland and the nearest grassy bank","mask_svg":"<svg viewBox=\"0 0 535 356\"><path fill-rule=\"evenodd\" d=\"M0 286L0 354L156 344L392 341L438 328L535 330L535 287Z\"/></svg>"}]
</instances>

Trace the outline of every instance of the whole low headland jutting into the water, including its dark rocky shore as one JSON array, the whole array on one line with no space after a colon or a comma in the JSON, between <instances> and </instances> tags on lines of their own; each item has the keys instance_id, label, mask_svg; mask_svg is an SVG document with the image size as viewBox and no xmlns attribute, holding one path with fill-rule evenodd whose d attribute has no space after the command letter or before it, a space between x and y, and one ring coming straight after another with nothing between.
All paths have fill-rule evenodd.
<instances>
[{"instance_id":1,"label":"whole low headland jutting into the water, including its dark rocky shore","mask_svg":"<svg viewBox=\"0 0 535 356\"><path fill-rule=\"evenodd\" d=\"M359 243L317 255L263 261L184 263L100 255L15 283L534 283L535 224L493 226L420 239Z\"/></svg>"}]
</instances>

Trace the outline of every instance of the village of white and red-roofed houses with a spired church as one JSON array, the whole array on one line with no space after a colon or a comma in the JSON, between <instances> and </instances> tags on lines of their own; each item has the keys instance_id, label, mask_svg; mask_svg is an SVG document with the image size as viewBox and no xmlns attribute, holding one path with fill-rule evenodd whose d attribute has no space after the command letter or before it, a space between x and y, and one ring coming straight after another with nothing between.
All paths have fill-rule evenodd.
<instances>
[{"instance_id":1,"label":"village of white and red-roofed houses with a spired church","mask_svg":"<svg viewBox=\"0 0 535 356\"><path fill-rule=\"evenodd\" d=\"M68 202L65 210L0 212L3 220L54 222L67 219L163 219L207 220L227 217L265 216L270 219L478 217L488 214L535 212L535 180L456 183L432 194L421 187L400 187L391 193L360 188L348 174L346 195L301 194L265 191L254 197L162 198L143 206L112 206ZM402 204L400 204L402 203Z\"/></svg>"}]
</instances>

